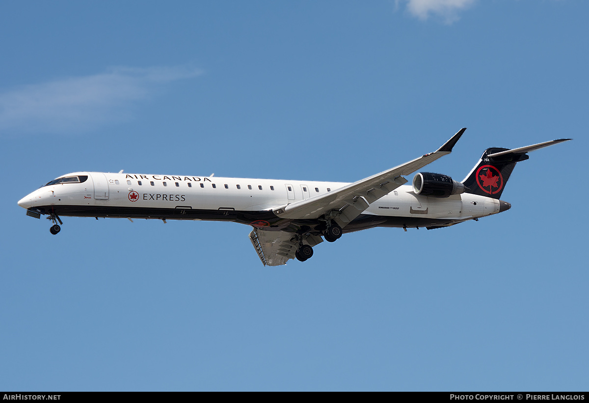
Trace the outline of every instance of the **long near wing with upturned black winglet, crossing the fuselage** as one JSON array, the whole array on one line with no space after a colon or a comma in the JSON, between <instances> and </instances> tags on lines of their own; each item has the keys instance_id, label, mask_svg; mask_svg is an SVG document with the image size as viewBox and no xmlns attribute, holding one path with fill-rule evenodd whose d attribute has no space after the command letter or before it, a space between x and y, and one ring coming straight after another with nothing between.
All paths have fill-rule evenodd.
<instances>
[{"instance_id":1,"label":"long near wing with upturned black winglet, crossing the fuselage","mask_svg":"<svg viewBox=\"0 0 589 403\"><path fill-rule=\"evenodd\" d=\"M433 153L423 155L358 182L350 183L340 189L332 190L332 192L276 207L273 212L284 219L316 219L332 211L332 219L340 227L344 227L358 217L362 211L368 209L370 203L376 202L380 197L407 183L403 175L411 174L439 157L451 153L452 147L458 142L465 130L466 127Z\"/></svg>"}]
</instances>

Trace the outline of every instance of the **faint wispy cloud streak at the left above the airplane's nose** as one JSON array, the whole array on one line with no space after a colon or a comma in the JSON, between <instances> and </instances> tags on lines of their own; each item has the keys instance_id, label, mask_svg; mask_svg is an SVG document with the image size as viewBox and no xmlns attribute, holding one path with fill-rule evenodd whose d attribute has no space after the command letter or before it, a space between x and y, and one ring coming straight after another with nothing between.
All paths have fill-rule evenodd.
<instances>
[{"instance_id":1,"label":"faint wispy cloud streak at the left above the airplane's nose","mask_svg":"<svg viewBox=\"0 0 589 403\"><path fill-rule=\"evenodd\" d=\"M84 132L130 119L162 85L200 73L190 66L115 67L0 92L0 134Z\"/></svg>"}]
</instances>

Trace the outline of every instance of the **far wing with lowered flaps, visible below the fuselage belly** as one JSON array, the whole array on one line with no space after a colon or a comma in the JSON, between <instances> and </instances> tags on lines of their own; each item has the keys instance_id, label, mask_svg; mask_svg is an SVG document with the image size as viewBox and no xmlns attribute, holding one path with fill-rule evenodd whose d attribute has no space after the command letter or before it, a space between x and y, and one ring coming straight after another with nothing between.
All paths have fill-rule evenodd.
<instances>
[{"instance_id":1,"label":"far wing with lowered flaps, visible below the fuselage belly","mask_svg":"<svg viewBox=\"0 0 589 403\"><path fill-rule=\"evenodd\" d=\"M320 236L307 234L303 240L310 246L323 241ZM250 232L250 241L264 266L280 266L294 258L299 244L294 240L294 234L286 231L264 231L254 229Z\"/></svg>"}]
</instances>

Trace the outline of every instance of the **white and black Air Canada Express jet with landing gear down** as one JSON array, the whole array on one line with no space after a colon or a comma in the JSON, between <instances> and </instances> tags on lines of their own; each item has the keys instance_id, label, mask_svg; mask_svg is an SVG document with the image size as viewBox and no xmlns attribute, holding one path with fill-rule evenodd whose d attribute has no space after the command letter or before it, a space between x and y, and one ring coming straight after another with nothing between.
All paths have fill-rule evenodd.
<instances>
[{"instance_id":1,"label":"white and black Air Canada Express jet with landing gear down","mask_svg":"<svg viewBox=\"0 0 589 403\"><path fill-rule=\"evenodd\" d=\"M515 164L527 153L571 139L484 151L462 182L419 172L452 152L466 128L435 152L354 183L211 176L74 172L19 200L27 216L233 221L252 226L250 240L264 266L306 261L323 239L373 227L440 229L509 210L500 200ZM59 224L58 224L59 223Z\"/></svg>"}]
</instances>

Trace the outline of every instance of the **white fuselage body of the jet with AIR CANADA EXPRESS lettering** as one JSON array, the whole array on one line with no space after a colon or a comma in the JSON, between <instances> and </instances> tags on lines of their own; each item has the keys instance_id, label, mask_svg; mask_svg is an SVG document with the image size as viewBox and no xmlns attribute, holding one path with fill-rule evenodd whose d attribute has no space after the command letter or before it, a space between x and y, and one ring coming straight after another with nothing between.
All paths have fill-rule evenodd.
<instances>
[{"instance_id":1,"label":"white fuselage body of the jet with AIR CANADA EXPRESS lettering","mask_svg":"<svg viewBox=\"0 0 589 403\"><path fill-rule=\"evenodd\" d=\"M43 186L18 204L27 209L64 216L214 220L217 219L214 214L204 214L203 217L194 214L196 211L216 214L220 211L272 213L276 206L319 196L347 184L100 172L77 172L62 177L71 176L88 176L88 179L83 183ZM194 214L166 213L178 210ZM411 186L404 185L370 204L363 215L409 217L416 222L459 222L498 212L499 201L491 197L470 193L445 198L427 197L413 193ZM229 219L226 216L221 214L219 220ZM246 223L244 220L236 221ZM387 226L420 226L403 224L402 221L398 225Z\"/></svg>"}]
</instances>

